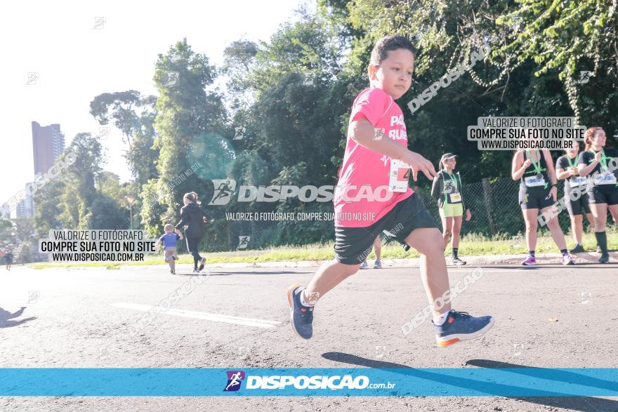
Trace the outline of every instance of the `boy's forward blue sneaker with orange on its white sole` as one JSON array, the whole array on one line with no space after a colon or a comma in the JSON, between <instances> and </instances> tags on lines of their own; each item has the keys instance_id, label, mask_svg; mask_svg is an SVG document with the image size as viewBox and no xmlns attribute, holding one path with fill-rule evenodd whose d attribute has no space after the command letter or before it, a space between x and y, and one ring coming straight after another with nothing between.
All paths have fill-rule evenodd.
<instances>
[{"instance_id":1,"label":"boy's forward blue sneaker with orange on its white sole","mask_svg":"<svg viewBox=\"0 0 618 412\"><path fill-rule=\"evenodd\" d=\"M490 316L473 317L468 312L451 310L444 324L433 325L438 346L447 347L460 340L478 338L494 326Z\"/></svg>"}]
</instances>

